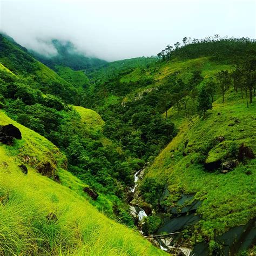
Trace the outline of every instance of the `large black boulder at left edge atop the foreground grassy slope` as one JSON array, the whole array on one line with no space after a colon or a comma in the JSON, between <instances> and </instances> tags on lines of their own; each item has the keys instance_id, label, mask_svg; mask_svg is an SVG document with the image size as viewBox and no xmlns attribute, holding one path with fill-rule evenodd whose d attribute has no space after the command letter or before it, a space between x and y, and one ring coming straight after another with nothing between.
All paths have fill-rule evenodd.
<instances>
[{"instance_id":1,"label":"large black boulder at left edge atop the foreground grassy slope","mask_svg":"<svg viewBox=\"0 0 256 256\"><path fill-rule=\"evenodd\" d=\"M21 131L12 124L0 126L0 142L12 145L14 139L22 139Z\"/></svg>"}]
</instances>

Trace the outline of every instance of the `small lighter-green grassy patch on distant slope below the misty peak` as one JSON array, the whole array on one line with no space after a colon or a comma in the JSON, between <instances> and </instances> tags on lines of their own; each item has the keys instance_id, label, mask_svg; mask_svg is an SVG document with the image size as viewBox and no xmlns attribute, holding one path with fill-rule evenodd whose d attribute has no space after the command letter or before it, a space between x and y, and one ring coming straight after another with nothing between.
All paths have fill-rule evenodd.
<instances>
[{"instance_id":1,"label":"small lighter-green grassy patch on distant slope below the misty peak","mask_svg":"<svg viewBox=\"0 0 256 256\"><path fill-rule=\"evenodd\" d=\"M84 87L89 84L89 79L83 71L75 71L68 66L56 66L56 72L75 87Z\"/></svg>"}]
</instances>

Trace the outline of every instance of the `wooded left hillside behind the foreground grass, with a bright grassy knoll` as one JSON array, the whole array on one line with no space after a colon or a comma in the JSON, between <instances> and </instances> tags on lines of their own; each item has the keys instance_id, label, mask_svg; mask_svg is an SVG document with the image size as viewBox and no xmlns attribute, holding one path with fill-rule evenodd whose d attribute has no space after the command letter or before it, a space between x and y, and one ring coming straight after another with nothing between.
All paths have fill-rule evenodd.
<instances>
[{"instance_id":1,"label":"wooded left hillside behind the foreground grass, with a bright grassy knoll","mask_svg":"<svg viewBox=\"0 0 256 256\"><path fill-rule=\"evenodd\" d=\"M131 164L126 164L127 158L124 152L116 143L112 143L103 135L104 122L96 112L65 104L65 96L69 99L77 99L82 94L80 96L74 94L70 87L63 87L59 90L60 87L54 79L62 78L58 77L54 71L30 57L22 48L5 38L3 38L3 45L10 50L10 52L1 51L3 56L7 56L6 59L15 63L15 56L20 53L29 58L29 62L24 62L22 65L29 69L28 66L35 63L40 69L34 72L30 67L32 71L28 70L22 74L15 71L15 75L1 64L1 107L11 118L38 132L58 146L68 158L70 172L89 184L98 193L108 194L107 197L114 206L115 213L111 206L111 210L109 208L104 210L106 214L111 217L116 215L117 219L121 218L126 221L127 225L133 225L123 198L126 184L132 184L133 169L140 167L136 160L133 159ZM20 71L23 72L24 69L20 69ZM51 85L54 84L54 86L51 87L48 84L42 86L42 83L36 82L43 78L49 79ZM79 89L82 90L82 87ZM54 95L55 90L58 92L56 94L61 97ZM73 100L67 101L73 102ZM123 171L124 165L127 175L120 176L119 173Z\"/></svg>"}]
</instances>

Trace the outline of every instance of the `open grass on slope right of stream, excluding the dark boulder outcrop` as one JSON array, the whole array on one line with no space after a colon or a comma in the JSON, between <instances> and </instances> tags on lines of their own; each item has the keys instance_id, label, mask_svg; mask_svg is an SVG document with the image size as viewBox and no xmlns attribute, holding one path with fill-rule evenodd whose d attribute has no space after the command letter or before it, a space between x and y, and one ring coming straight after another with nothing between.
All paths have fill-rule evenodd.
<instances>
[{"instance_id":1,"label":"open grass on slope right of stream, excluding the dark boulder outcrop","mask_svg":"<svg viewBox=\"0 0 256 256\"><path fill-rule=\"evenodd\" d=\"M203 217L199 225L201 234L207 237L213 238L214 233L245 224L256 213L256 159L248 161L247 165L240 164L227 174L209 173L203 165L192 163L201 157L200 150L218 136L224 136L225 140L210 149L207 160L225 156L232 144L239 146L245 143L256 152L255 103L247 109L245 100L230 92L226 103L218 98L207 116L197 118L194 125L189 125L174 110L170 110L169 115L179 125L179 133L155 159L146 178L157 177L167 181L172 193L169 205L174 204L182 192L196 193L197 199L205 199L198 213ZM235 119L239 123L228 126ZM185 149L186 140L188 145ZM183 157L183 152L187 153L186 157ZM247 175L247 171L252 174Z\"/></svg>"}]
</instances>

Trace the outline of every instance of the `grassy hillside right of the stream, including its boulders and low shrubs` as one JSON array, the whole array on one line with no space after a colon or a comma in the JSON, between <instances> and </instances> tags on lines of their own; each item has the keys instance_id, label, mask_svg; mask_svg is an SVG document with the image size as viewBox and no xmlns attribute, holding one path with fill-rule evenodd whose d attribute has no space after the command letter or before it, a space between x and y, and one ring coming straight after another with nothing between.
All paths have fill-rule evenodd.
<instances>
[{"instance_id":1,"label":"grassy hillside right of the stream, including its boulders and low shrubs","mask_svg":"<svg viewBox=\"0 0 256 256\"><path fill-rule=\"evenodd\" d=\"M194 119L194 124L171 109L170 118L179 125L179 132L154 160L140 187L148 203L167 207L165 214L173 218L175 207L181 211L177 201L183 194L193 194L193 202L203 202L196 210L198 223L183 230L184 238L193 244L214 241L256 214L256 161L243 152L246 148L256 152L256 106L247 108L234 92L226 101L223 104L218 98L207 116ZM232 163L237 164L231 171L228 164ZM166 187L169 194L160 200ZM173 232L172 227L162 230Z\"/></svg>"}]
</instances>

